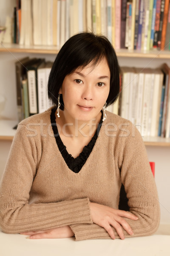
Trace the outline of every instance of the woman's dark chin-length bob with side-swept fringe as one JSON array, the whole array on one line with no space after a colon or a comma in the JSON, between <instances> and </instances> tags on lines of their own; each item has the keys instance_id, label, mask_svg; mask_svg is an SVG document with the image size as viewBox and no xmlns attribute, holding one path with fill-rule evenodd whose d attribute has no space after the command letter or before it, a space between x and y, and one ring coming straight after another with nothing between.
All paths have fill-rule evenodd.
<instances>
[{"instance_id":1,"label":"woman's dark chin-length bob with side-swept fringe","mask_svg":"<svg viewBox=\"0 0 170 256\"><path fill-rule=\"evenodd\" d=\"M110 92L106 101L107 106L116 101L119 95L119 64L113 46L103 35L83 32L72 36L60 49L48 80L48 98L58 105L59 89L65 76L73 73L78 67L85 67L91 61L94 66L106 58L111 72ZM62 94L60 109L64 109Z\"/></svg>"}]
</instances>

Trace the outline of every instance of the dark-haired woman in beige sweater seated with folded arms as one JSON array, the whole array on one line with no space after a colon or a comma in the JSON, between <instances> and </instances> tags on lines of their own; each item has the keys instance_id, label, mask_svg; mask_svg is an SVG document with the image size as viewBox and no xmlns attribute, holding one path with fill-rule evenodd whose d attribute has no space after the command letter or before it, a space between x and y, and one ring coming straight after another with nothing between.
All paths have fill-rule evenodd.
<instances>
[{"instance_id":1,"label":"dark-haired woman in beige sweater seated with folded arms","mask_svg":"<svg viewBox=\"0 0 170 256\"><path fill-rule=\"evenodd\" d=\"M54 107L20 122L1 184L0 226L29 239L147 236L159 225L156 185L131 122L105 111L119 64L103 36L80 33L48 81ZM118 209L121 184L130 212Z\"/></svg>"}]
</instances>

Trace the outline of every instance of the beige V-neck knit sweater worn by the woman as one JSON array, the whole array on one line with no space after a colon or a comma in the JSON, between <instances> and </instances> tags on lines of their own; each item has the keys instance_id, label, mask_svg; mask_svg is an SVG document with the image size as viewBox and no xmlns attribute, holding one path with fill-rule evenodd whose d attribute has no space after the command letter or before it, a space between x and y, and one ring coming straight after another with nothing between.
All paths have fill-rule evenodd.
<instances>
[{"instance_id":1,"label":"beige V-neck knit sweater worn by the woman","mask_svg":"<svg viewBox=\"0 0 170 256\"><path fill-rule=\"evenodd\" d=\"M59 152L50 114L51 109L18 125L0 186L3 232L70 225L76 240L108 239L93 223L89 201L118 209L122 182L130 212L139 217L127 219L133 236L154 233L160 216L156 185L142 137L131 122L107 112L90 156L74 173ZM124 235L130 236L125 230Z\"/></svg>"}]
</instances>

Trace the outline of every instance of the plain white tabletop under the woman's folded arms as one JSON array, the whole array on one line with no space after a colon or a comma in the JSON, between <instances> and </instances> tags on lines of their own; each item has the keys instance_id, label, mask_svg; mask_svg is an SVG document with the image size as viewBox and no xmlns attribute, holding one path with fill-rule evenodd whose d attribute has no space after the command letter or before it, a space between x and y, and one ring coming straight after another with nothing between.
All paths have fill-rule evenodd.
<instances>
[{"instance_id":1,"label":"plain white tabletop under the woman's folded arms","mask_svg":"<svg viewBox=\"0 0 170 256\"><path fill-rule=\"evenodd\" d=\"M125 240L29 240L0 231L0 256L169 256L170 236L153 235Z\"/></svg>"}]
</instances>

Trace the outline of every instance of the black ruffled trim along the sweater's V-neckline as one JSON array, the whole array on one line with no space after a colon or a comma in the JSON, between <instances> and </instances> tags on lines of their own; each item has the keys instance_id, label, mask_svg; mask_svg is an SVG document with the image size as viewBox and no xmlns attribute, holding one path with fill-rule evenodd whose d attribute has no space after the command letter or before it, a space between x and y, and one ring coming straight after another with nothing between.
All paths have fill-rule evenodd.
<instances>
[{"instance_id":1,"label":"black ruffled trim along the sweater's V-neckline","mask_svg":"<svg viewBox=\"0 0 170 256\"><path fill-rule=\"evenodd\" d=\"M59 151L62 154L62 157L65 160L65 163L67 164L68 168L71 169L71 171L78 173L81 169L82 166L85 164L86 160L88 159L92 149L94 148L94 144L96 143L97 137L99 135L100 128L102 126L102 119L103 119L103 112L102 112L102 117L100 119L100 122L97 126L97 130L94 134L94 137L92 137L91 141L88 143L87 146L85 146L82 150L82 152L79 154L78 157L74 158L71 156L71 154L68 154L68 151L66 150L66 146L62 143L62 140L59 136L57 125L56 125L56 112L57 108L53 108L51 110L51 125L52 129L54 132L54 137L56 139L57 146L59 148Z\"/></svg>"}]
</instances>

